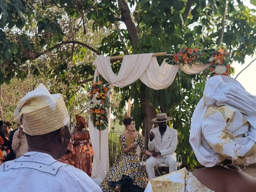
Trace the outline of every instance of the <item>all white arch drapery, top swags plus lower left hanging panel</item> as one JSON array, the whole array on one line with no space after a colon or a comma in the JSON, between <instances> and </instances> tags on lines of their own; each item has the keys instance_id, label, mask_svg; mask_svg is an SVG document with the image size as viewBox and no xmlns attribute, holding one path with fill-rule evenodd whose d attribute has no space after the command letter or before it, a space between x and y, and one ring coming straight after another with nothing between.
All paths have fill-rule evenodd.
<instances>
[{"instance_id":1,"label":"all white arch drapery, top swags plus lower left hanging panel","mask_svg":"<svg viewBox=\"0 0 256 192\"><path fill-rule=\"evenodd\" d=\"M196 74L202 72L209 65L198 64L191 67L182 65L170 65L164 60L159 66L156 57L148 54L126 55L122 60L122 65L118 74L116 75L111 68L110 58L98 56L93 62L96 67L94 72L94 82L96 78L101 75L110 84L116 87L124 87L132 84L140 79L146 86L155 89L168 88L180 68L187 74ZM109 169L108 160L108 129L101 133L101 154L99 154L99 130L94 128L89 118L89 132L92 140L92 147L94 149L94 159L92 167L92 177L104 178ZM101 156L101 159L99 157Z\"/></svg>"}]
</instances>

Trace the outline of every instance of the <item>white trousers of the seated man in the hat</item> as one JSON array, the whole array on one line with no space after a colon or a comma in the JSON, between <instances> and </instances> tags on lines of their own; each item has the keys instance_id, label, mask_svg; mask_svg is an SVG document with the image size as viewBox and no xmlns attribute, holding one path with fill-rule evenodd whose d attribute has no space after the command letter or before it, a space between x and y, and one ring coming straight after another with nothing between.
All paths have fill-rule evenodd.
<instances>
[{"instance_id":1,"label":"white trousers of the seated man in the hat","mask_svg":"<svg viewBox=\"0 0 256 192\"><path fill-rule=\"evenodd\" d=\"M147 170L149 179L154 179L156 177L154 167L161 163L164 163L169 166L169 173L177 171L176 156L169 155L165 158L162 156L158 156L158 157L151 156L146 161L146 170Z\"/></svg>"}]
</instances>

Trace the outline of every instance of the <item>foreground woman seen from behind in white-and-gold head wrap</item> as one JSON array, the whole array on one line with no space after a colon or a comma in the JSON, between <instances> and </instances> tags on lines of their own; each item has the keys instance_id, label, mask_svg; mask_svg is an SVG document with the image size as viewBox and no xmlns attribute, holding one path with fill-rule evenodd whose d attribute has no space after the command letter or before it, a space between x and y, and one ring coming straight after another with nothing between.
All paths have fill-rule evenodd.
<instances>
[{"instance_id":1,"label":"foreground woman seen from behind in white-and-gold head wrap","mask_svg":"<svg viewBox=\"0 0 256 192\"><path fill-rule=\"evenodd\" d=\"M198 162L206 168L193 172L184 168L158 181L150 180L145 192L159 190L166 179L170 184L164 188L177 192L256 190L256 179L239 167L256 162L256 97L238 81L227 76L207 80L192 116L189 141Z\"/></svg>"}]
</instances>

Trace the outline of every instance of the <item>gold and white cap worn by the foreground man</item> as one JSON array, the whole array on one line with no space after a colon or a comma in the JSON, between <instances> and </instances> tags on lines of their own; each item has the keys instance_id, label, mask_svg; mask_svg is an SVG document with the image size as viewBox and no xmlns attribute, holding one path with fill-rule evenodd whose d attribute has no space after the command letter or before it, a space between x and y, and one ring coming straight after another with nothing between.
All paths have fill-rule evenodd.
<instances>
[{"instance_id":1,"label":"gold and white cap worn by the foreground man","mask_svg":"<svg viewBox=\"0 0 256 192\"><path fill-rule=\"evenodd\" d=\"M53 132L70 122L62 94L50 94L42 83L20 100L13 116L31 136Z\"/></svg>"}]
</instances>

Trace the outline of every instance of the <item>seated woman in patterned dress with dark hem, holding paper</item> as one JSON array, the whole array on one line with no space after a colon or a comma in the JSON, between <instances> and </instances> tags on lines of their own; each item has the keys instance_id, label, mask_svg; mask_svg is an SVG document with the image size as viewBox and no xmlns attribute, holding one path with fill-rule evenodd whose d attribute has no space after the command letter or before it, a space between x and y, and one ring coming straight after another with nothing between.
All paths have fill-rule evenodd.
<instances>
[{"instance_id":1,"label":"seated woman in patterned dress with dark hem, holding paper","mask_svg":"<svg viewBox=\"0 0 256 192\"><path fill-rule=\"evenodd\" d=\"M102 184L100 184L103 192L143 192L148 182L146 172L144 172L136 153L137 146L140 146L145 154L150 156L152 154L144 147L142 136L135 132L132 118L125 117L123 123L127 131L119 137L123 152L122 157L110 168ZM128 144L130 138L133 142Z\"/></svg>"}]
</instances>

